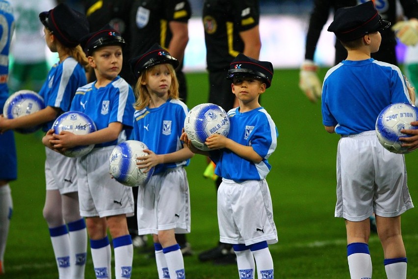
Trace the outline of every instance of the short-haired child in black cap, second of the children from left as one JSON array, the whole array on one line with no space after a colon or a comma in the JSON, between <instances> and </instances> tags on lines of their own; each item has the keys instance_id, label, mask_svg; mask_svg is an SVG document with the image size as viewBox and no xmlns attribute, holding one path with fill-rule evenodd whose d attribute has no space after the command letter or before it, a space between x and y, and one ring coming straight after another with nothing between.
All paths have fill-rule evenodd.
<instances>
[{"instance_id":1,"label":"short-haired child in black cap, second of the children from left","mask_svg":"<svg viewBox=\"0 0 418 279\"><path fill-rule=\"evenodd\" d=\"M86 218L97 278L112 278L107 229L113 241L116 279L131 278L133 247L126 216L134 212L132 189L109 175L109 156L132 129L134 95L131 86L119 77L124 45L125 40L109 26L90 33L81 43L97 80L78 88L71 111L89 115L97 131L56 135L52 130L47 134L57 150L95 144L77 161L77 176L80 213Z\"/></svg>"}]
</instances>

